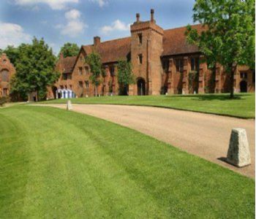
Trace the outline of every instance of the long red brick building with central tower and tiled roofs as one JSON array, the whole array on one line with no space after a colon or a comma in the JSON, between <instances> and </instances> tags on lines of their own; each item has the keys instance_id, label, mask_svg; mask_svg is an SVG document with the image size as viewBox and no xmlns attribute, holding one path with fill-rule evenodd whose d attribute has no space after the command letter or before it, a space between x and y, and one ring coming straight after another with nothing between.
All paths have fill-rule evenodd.
<instances>
[{"instance_id":1,"label":"long red brick building with central tower and tiled roofs","mask_svg":"<svg viewBox=\"0 0 256 219\"><path fill-rule=\"evenodd\" d=\"M188 45L186 27L163 30L154 20L140 21L140 15L130 27L131 37L101 42L94 37L93 45L80 48L77 57L59 58L56 69L61 77L48 93L56 98L56 91L71 90L75 96L93 96L94 85L89 79L90 69L84 58L96 51L102 58L105 77L98 87L100 95L118 94L117 63L121 58L132 63L135 84L129 85L129 95L159 95L160 93L222 93L229 92L229 75L222 66L216 72L208 69L203 55L194 45ZM202 31L200 25L193 26ZM255 70L238 66L235 74L236 92L255 91Z\"/></svg>"}]
</instances>

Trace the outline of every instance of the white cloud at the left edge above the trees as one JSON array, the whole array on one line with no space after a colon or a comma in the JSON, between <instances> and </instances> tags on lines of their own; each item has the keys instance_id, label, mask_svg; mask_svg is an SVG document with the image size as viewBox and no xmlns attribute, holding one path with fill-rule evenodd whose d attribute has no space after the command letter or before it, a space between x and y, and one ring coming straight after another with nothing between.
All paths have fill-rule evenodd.
<instances>
[{"instance_id":1,"label":"white cloud at the left edge above the trees","mask_svg":"<svg viewBox=\"0 0 256 219\"><path fill-rule=\"evenodd\" d=\"M30 42L31 36L23 31L23 28L15 23L1 23L0 22L0 47L3 49L7 45L14 45L15 47L23 42Z\"/></svg>"}]
</instances>

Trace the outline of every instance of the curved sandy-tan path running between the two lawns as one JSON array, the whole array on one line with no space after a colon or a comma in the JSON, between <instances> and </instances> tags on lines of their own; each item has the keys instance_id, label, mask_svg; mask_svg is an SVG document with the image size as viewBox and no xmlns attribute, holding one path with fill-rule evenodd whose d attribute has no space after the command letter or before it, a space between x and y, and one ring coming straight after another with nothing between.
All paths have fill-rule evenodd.
<instances>
[{"instance_id":1,"label":"curved sandy-tan path running between the two lawns","mask_svg":"<svg viewBox=\"0 0 256 219\"><path fill-rule=\"evenodd\" d=\"M49 106L66 108L66 104ZM72 109L133 128L208 161L255 177L255 120L157 107L72 104ZM238 127L247 131L252 157L252 165L244 168L222 161L227 155L231 129Z\"/></svg>"}]
</instances>

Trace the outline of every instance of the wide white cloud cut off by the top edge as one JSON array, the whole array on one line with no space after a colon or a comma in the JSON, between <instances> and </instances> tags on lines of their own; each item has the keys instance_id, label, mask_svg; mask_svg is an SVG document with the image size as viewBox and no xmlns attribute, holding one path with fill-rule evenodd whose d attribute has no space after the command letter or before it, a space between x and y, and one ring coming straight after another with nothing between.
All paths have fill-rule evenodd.
<instances>
[{"instance_id":1,"label":"wide white cloud cut off by the top edge","mask_svg":"<svg viewBox=\"0 0 256 219\"><path fill-rule=\"evenodd\" d=\"M78 3L79 0L14 0L15 4L26 6L48 4L51 9L65 9L67 4ZM99 0L100 1L100 0Z\"/></svg>"}]
</instances>

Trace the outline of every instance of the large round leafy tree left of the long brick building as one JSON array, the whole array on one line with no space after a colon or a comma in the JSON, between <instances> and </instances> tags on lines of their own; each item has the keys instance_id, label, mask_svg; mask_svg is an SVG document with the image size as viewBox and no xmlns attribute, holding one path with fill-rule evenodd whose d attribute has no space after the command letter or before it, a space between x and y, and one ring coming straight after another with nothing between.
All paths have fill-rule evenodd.
<instances>
[{"instance_id":1,"label":"large round leafy tree left of the long brick building","mask_svg":"<svg viewBox=\"0 0 256 219\"><path fill-rule=\"evenodd\" d=\"M48 86L59 78L54 72L56 57L44 39L34 38L32 44L18 47L19 55L15 61L16 74L11 81L11 94L26 99L29 93L36 91L38 99L44 99Z\"/></svg>"}]
</instances>

